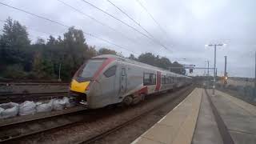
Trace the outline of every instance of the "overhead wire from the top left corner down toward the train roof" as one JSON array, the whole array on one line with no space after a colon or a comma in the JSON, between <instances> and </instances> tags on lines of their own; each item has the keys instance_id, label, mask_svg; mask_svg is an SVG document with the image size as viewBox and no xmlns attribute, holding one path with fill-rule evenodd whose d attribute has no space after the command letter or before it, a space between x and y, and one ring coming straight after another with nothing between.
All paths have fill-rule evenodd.
<instances>
[{"instance_id":1,"label":"overhead wire from the top left corner down toward the train roof","mask_svg":"<svg viewBox=\"0 0 256 144\"><path fill-rule=\"evenodd\" d=\"M33 13L29 12L29 11L22 10L22 9L19 9L19 8L17 8L17 7L14 7L14 6L7 5L6 3L0 2L0 4L3 5L3 6L10 7L10 8L12 8L12 9L14 9L14 10L19 10L19 11L22 11L22 12L24 12L24 13L26 13L26 14L30 14L30 15L32 15L32 16L34 16L34 17L44 19L44 20L46 20L46 21L48 21L48 22L53 22L53 23L58 24L58 25L60 25L60 26L64 26L64 27L70 28L70 26L67 26L67 25L65 25L65 24L62 24L61 22L56 22L56 21L54 21L54 20L51 20L50 18L45 18L45 17L42 17L42 16L40 16L40 15L38 15L38 14L33 14ZM97 38L97 39L99 39L99 40L102 40L103 42L107 42L107 43L109 43L109 44L111 44L111 45L117 46L117 47L119 47L119 48L121 48L121 49L123 49L123 50L131 51L131 50L126 49L126 48L123 47L123 46L119 46L119 45L115 44L114 42L110 42L110 41L108 41L108 40L106 40L106 39L104 39L104 38L100 38L100 37L98 37L98 36L96 36L96 35L94 35L94 34L90 34L90 33L86 33L86 32L83 32L83 34L89 35L90 37ZM135 53L134 51L131 51L131 52ZM136 53L135 53L135 54L136 54Z\"/></svg>"}]
</instances>

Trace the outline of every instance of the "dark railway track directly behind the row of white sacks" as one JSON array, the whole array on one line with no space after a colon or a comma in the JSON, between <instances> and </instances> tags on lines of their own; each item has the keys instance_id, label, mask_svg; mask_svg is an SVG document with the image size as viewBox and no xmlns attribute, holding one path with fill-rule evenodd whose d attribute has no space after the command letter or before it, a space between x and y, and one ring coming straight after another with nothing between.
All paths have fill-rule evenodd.
<instances>
[{"instance_id":1,"label":"dark railway track directly behind the row of white sacks","mask_svg":"<svg viewBox=\"0 0 256 144\"><path fill-rule=\"evenodd\" d=\"M68 96L68 92L0 94L0 103L38 101L38 100L45 100L45 99L51 99L51 98L62 98L65 96Z\"/></svg>"}]
</instances>

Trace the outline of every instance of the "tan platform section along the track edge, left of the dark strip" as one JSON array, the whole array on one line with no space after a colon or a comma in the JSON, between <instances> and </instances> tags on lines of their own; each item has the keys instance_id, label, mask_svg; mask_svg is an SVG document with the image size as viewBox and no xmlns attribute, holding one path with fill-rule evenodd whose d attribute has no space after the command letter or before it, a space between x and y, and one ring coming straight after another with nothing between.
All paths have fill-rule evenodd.
<instances>
[{"instance_id":1,"label":"tan platform section along the track edge, left of the dark strip","mask_svg":"<svg viewBox=\"0 0 256 144\"><path fill-rule=\"evenodd\" d=\"M194 89L178 106L133 143L190 143L196 126L202 89Z\"/></svg>"}]
</instances>

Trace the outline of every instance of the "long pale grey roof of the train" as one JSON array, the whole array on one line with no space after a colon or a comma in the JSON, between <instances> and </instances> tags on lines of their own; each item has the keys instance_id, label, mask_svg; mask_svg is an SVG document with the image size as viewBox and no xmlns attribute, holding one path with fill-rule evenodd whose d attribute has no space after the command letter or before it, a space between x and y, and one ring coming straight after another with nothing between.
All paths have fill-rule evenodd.
<instances>
[{"instance_id":1,"label":"long pale grey roof of the train","mask_svg":"<svg viewBox=\"0 0 256 144\"><path fill-rule=\"evenodd\" d=\"M171 73L171 74L174 74L174 75L177 75L177 76L179 75L181 77L190 78L190 77L187 77L187 76L182 75L182 74L176 74L176 73L170 72L169 70L165 70L165 69L162 69L162 68L157 67L157 66L151 66L151 65L148 65L146 63L137 62L137 61L134 61L132 59L123 58L121 56L114 55L114 54L102 54L102 55L98 55L98 56L96 56L94 58L114 58L114 59L120 60L122 62L132 63L132 64L135 64L135 65L138 65L138 66L145 66L145 67L149 67L149 68L152 68L152 69L155 69L155 70L161 70L161 71L164 71L164 72L167 72L167 73Z\"/></svg>"}]
</instances>

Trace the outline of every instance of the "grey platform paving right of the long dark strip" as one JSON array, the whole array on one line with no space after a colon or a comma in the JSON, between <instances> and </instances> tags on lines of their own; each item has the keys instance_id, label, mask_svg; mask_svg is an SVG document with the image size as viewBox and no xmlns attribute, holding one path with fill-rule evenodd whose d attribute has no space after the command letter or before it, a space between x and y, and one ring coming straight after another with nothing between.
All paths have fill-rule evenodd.
<instances>
[{"instance_id":1,"label":"grey platform paving right of the long dark strip","mask_svg":"<svg viewBox=\"0 0 256 144\"><path fill-rule=\"evenodd\" d=\"M216 90L211 97L236 144L256 144L256 106Z\"/></svg>"}]
</instances>

